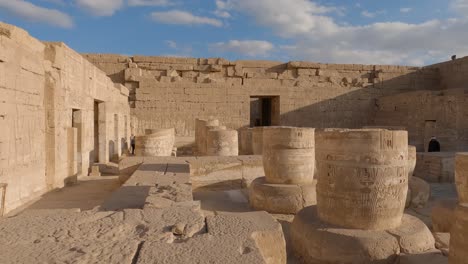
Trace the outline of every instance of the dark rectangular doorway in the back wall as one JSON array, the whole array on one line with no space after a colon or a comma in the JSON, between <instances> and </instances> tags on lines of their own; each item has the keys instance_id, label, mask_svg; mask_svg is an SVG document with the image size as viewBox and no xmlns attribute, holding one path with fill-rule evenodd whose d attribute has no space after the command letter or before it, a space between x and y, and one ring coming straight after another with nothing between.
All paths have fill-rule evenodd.
<instances>
[{"instance_id":1,"label":"dark rectangular doorway in the back wall","mask_svg":"<svg viewBox=\"0 0 468 264\"><path fill-rule=\"evenodd\" d=\"M250 127L279 125L279 106L279 96L251 96Z\"/></svg>"}]
</instances>

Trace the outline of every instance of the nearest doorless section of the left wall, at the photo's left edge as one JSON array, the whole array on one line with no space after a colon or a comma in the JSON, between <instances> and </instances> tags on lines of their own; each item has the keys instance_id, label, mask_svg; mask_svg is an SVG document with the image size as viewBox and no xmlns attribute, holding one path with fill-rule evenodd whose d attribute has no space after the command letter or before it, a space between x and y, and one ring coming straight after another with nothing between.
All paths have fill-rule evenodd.
<instances>
[{"instance_id":1,"label":"nearest doorless section of the left wall, at the photo's left edge","mask_svg":"<svg viewBox=\"0 0 468 264\"><path fill-rule=\"evenodd\" d=\"M46 191L44 44L0 23L0 183L5 213Z\"/></svg>"}]
</instances>

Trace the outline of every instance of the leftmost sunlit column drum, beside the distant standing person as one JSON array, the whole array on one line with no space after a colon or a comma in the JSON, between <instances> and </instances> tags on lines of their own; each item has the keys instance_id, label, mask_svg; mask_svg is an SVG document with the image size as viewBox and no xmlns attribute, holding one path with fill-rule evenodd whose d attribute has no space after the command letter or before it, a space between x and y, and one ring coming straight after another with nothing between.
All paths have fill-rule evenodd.
<instances>
[{"instance_id":1,"label":"leftmost sunlit column drum, beside the distant standing person","mask_svg":"<svg viewBox=\"0 0 468 264\"><path fill-rule=\"evenodd\" d=\"M175 142L175 130L146 129L144 136L135 138L135 153L138 156L171 156Z\"/></svg>"}]
</instances>

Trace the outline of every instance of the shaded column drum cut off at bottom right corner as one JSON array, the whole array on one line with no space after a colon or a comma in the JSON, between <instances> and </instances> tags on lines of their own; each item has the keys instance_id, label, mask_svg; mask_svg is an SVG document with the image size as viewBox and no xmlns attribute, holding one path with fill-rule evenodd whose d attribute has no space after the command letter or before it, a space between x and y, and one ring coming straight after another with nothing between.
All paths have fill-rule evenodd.
<instances>
[{"instance_id":1,"label":"shaded column drum cut off at bottom right corner","mask_svg":"<svg viewBox=\"0 0 468 264\"><path fill-rule=\"evenodd\" d=\"M468 204L455 210L455 221L450 231L449 264L468 263Z\"/></svg>"}]
</instances>

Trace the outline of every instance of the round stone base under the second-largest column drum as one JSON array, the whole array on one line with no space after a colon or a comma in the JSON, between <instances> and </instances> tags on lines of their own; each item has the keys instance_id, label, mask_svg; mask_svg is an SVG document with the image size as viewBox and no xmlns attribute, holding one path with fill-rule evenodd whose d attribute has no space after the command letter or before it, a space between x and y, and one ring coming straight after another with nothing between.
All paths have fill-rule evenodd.
<instances>
[{"instance_id":1,"label":"round stone base under the second-largest column drum","mask_svg":"<svg viewBox=\"0 0 468 264\"><path fill-rule=\"evenodd\" d=\"M295 214L317 204L315 187L310 184L270 184L265 177L255 179L249 188L250 206L276 214Z\"/></svg>"}]
</instances>

